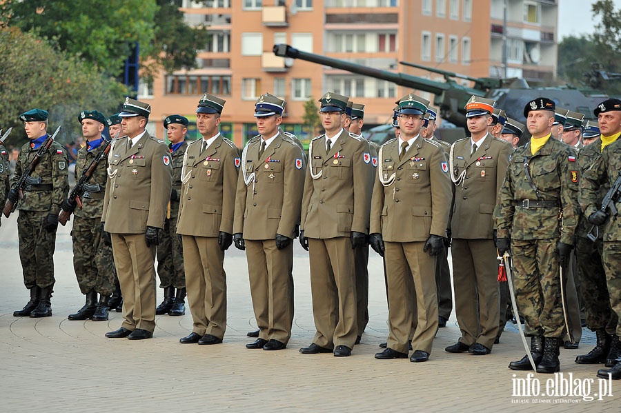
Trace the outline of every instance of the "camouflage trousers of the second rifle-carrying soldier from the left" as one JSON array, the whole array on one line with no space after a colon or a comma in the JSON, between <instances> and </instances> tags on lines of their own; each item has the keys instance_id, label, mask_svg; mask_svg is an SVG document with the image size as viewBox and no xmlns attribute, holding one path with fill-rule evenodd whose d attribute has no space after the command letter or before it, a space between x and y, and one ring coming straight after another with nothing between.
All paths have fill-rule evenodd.
<instances>
[{"instance_id":1,"label":"camouflage trousers of the second rifle-carrying soldier from the left","mask_svg":"<svg viewBox=\"0 0 621 413\"><path fill-rule=\"evenodd\" d=\"M95 290L101 295L111 295L115 290L117 271L112 245L103 242L102 233L100 218L74 216L73 269L82 294Z\"/></svg>"}]
</instances>

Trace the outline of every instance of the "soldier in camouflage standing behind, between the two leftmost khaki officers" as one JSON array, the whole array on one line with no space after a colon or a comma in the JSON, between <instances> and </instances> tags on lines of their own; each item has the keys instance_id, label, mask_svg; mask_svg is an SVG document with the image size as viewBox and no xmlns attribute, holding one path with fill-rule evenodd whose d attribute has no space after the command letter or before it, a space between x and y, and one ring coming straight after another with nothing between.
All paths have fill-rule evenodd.
<instances>
[{"instance_id":1,"label":"soldier in camouflage standing behind, between the two leftmost khaki officers","mask_svg":"<svg viewBox=\"0 0 621 413\"><path fill-rule=\"evenodd\" d=\"M172 192L164 231L159 233L157 245L157 275L159 288L164 288L164 301L155 309L155 314L182 316L186 314L186 273L184 271L184 248L177 236L177 214L181 195L181 169L188 143L188 119L179 114L171 114L164 119L168 136L168 148L172 157ZM175 289L177 290L175 294Z\"/></svg>"}]
</instances>

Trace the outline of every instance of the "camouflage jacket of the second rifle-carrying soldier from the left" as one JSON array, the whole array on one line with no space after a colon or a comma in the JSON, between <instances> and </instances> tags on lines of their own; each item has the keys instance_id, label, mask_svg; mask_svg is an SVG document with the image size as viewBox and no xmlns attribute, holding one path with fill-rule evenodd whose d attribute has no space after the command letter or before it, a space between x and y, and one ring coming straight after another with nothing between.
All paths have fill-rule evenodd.
<instances>
[{"instance_id":1,"label":"camouflage jacket of the second rifle-carrying soldier from the left","mask_svg":"<svg viewBox=\"0 0 621 413\"><path fill-rule=\"evenodd\" d=\"M90 166L97 154L101 150L101 146L95 150L88 151L85 146L81 148L77 153L77 159L75 161L75 181L76 183L82 177L82 173L86 172L86 169ZM83 196L80 197L82 201L82 208L75 208L75 216L80 218L101 218L103 214L103 197L106 195L106 181L108 181L108 157L104 157L97 164L97 168L92 173L92 176L86 183L88 185L99 185L99 190L86 191Z\"/></svg>"}]
</instances>

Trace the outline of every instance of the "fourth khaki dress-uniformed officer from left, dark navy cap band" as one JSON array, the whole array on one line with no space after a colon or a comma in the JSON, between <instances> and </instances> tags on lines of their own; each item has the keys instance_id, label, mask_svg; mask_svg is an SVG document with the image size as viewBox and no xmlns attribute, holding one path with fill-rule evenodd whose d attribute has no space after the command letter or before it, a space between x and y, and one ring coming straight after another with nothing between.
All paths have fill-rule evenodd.
<instances>
[{"instance_id":1,"label":"fourth khaki dress-uniformed officer from left, dark navy cap band","mask_svg":"<svg viewBox=\"0 0 621 413\"><path fill-rule=\"evenodd\" d=\"M353 250L366 242L371 155L364 139L341 127L348 100L333 92L322 96L325 133L308 149L299 241L310 250L317 333L299 349L304 354L349 356L358 334Z\"/></svg>"}]
</instances>

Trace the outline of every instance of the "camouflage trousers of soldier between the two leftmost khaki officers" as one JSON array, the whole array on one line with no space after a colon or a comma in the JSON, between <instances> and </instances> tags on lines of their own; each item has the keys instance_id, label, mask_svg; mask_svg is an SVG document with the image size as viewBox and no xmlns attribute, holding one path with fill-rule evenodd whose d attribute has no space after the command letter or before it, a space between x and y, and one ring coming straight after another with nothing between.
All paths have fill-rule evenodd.
<instances>
[{"instance_id":1,"label":"camouflage trousers of soldier between the two leftmost khaki officers","mask_svg":"<svg viewBox=\"0 0 621 413\"><path fill-rule=\"evenodd\" d=\"M157 245L157 275L159 288L186 288L184 245L177 235L177 217L170 217L159 232Z\"/></svg>"}]
</instances>

